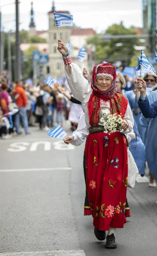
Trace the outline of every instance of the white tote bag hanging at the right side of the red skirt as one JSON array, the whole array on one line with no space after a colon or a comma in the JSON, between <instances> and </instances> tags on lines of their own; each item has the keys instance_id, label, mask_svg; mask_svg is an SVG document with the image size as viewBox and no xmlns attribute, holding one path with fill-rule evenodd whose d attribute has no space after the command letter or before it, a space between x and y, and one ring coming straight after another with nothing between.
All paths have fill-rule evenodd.
<instances>
[{"instance_id":1,"label":"white tote bag hanging at the right side of the red skirt","mask_svg":"<svg viewBox=\"0 0 157 256\"><path fill-rule=\"evenodd\" d=\"M138 175L138 168L134 161L134 157L132 156L129 148L127 148L128 151L128 183L127 186L129 188L134 188L135 181Z\"/></svg>"}]
</instances>

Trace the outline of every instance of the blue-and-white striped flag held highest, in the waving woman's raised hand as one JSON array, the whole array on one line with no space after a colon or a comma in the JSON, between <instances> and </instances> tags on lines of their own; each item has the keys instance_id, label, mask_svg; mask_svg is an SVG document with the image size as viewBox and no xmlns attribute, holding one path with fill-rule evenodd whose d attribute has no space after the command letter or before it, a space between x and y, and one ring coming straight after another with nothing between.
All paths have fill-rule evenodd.
<instances>
[{"instance_id":1,"label":"blue-and-white striped flag held highest, in the waving woman's raised hand","mask_svg":"<svg viewBox=\"0 0 157 256\"><path fill-rule=\"evenodd\" d=\"M54 12L56 26L73 26L73 15Z\"/></svg>"}]
</instances>

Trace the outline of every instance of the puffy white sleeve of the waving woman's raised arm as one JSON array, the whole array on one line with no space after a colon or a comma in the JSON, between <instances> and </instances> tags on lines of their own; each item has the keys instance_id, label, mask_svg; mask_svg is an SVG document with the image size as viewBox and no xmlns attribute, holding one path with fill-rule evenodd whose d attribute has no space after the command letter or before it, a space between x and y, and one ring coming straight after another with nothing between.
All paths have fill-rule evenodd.
<instances>
[{"instance_id":1,"label":"puffy white sleeve of the waving woman's raised arm","mask_svg":"<svg viewBox=\"0 0 157 256\"><path fill-rule=\"evenodd\" d=\"M68 66L65 66L65 74L71 93L74 95L74 98L86 104L91 96L91 86L83 77L83 73L77 64L71 63L70 67L71 75L69 73Z\"/></svg>"}]
</instances>

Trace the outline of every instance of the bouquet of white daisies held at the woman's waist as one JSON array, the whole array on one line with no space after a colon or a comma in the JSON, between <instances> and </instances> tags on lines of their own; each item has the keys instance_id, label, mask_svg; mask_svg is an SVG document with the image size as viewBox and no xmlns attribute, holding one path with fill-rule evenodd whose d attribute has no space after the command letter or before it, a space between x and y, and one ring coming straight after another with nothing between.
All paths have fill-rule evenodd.
<instances>
[{"instance_id":1,"label":"bouquet of white daisies held at the woman's waist","mask_svg":"<svg viewBox=\"0 0 157 256\"><path fill-rule=\"evenodd\" d=\"M108 131L110 133L113 133L116 131L123 132L123 130L120 130L120 126L122 125L122 122L123 122L122 116L120 115L113 114L105 118L102 117L100 119L100 122L102 122L104 125L105 133L107 133Z\"/></svg>"}]
</instances>

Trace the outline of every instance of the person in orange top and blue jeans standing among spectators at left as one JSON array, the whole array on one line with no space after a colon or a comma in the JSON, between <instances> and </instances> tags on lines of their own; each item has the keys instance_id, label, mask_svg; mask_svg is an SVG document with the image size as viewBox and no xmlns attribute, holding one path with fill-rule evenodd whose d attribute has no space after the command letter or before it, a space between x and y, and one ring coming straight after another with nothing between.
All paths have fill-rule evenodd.
<instances>
[{"instance_id":1,"label":"person in orange top and blue jeans standing among spectators at left","mask_svg":"<svg viewBox=\"0 0 157 256\"><path fill-rule=\"evenodd\" d=\"M29 134L29 125L26 113L26 105L27 105L27 95L26 91L22 88L22 81L18 81L15 87L16 93L18 93L19 97L16 100L16 103L19 107L19 112L15 116L15 127L17 129L17 134L21 134L20 131L20 117L22 119L23 128L25 130L25 134Z\"/></svg>"}]
</instances>

